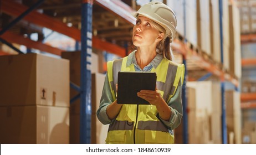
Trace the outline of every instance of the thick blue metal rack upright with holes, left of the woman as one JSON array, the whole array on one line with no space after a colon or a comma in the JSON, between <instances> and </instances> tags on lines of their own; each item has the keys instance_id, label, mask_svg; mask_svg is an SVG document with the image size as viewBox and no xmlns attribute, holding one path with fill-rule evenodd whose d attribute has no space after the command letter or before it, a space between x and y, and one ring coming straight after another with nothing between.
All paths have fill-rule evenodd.
<instances>
[{"instance_id":1,"label":"thick blue metal rack upright with holes, left of the woman","mask_svg":"<svg viewBox=\"0 0 256 155\"><path fill-rule=\"evenodd\" d=\"M91 53L93 0L81 4L80 143L91 143Z\"/></svg>"}]
</instances>

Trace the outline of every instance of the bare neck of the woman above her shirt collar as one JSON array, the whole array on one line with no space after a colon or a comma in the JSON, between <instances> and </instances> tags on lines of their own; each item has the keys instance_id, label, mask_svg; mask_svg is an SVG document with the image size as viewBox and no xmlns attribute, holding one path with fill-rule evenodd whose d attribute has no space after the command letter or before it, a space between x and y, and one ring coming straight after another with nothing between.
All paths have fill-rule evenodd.
<instances>
[{"instance_id":1,"label":"bare neck of the woman above her shirt collar","mask_svg":"<svg viewBox=\"0 0 256 155\"><path fill-rule=\"evenodd\" d=\"M140 66L141 69L144 69L145 66L149 65L151 61L156 56L156 50L150 50L150 49L140 49L135 53L135 58L137 61L137 64Z\"/></svg>"}]
</instances>

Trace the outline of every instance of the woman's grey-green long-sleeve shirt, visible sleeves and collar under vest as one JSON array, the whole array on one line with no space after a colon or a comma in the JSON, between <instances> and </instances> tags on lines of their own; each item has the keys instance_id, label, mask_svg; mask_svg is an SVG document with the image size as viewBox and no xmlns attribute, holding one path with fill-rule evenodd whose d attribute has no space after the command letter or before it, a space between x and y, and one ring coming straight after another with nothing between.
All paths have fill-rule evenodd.
<instances>
[{"instance_id":1,"label":"woman's grey-green long-sleeve shirt, visible sleeves and collar under vest","mask_svg":"<svg viewBox=\"0 0 256 155\"><path fill-rule=\"evenodd\" d=\"M147 66L145 66L144 69L141 69L139 65L137 65L137 61L135 58L135 52L129 54L127 59L127 65L134 64L135 71L151 71L152 68L157 68L157 66L160 64L161 60L163 59L163 56L161 54L157 54L155 58L151 61L151 63ZM111 89L109 86L109 80L108 77L105 77L104 87L102 96L100 99L100 106L97 111L97 117L100 120L101 123L104 125L110 124L114 120L110 120L109 117L106 114L106 108L109 106L112 102L114 102L114 99L112 99L111 95ZM180 125L180 121L183 115L183 108L182 108L182 102L181 102L181 82L179 82L177 90L175 94L172 96L171 100L168 101L168 106L171 108L171 117L169 121L165 121L160 117L160 120L163 122L164 125L166 125L170 130L173 130L178 125Z\"/></svg>"}]
</instances>

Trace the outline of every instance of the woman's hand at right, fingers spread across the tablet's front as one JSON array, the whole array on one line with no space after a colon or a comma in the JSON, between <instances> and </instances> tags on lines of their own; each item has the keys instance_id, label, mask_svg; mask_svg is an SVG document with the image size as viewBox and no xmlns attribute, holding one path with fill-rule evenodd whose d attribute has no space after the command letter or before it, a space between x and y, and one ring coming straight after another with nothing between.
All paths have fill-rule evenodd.
<instances>
[{"instance_id":1,"label":"woman's hand at right, fingers spread across the tablet's front","mask_svg":"<svg viewBox=\"0 0 256 155\"><path fill-rule=\"evenodd\" d=\"M137 92L137 96L155 106L162 100L162 96L158 90L141 90Z\"/></svg>"}]
</instances>

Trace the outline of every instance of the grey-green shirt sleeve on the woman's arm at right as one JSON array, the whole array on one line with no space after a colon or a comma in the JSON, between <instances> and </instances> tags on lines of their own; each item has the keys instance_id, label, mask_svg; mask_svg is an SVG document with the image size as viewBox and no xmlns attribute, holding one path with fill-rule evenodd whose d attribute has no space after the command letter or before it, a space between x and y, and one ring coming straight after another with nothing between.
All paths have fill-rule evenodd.
<instances>
[{"instance_id":1,"label":"grey-green shirt sleeve on the woman's arm at right","mask_svg":"<svg viewBox=\"0 0 256 155\"><path fill-rule=\"evenodd\" d=\"M182 100L181 100L181 82L178 83L177 90L175 95L173 95L170 101L167 103L168 106L171 108L171 117L169 121L163 120L160 116L160 120L166 125L170 130L175 129L180 125L181 118L183 116L183 107L182 107Z\"/></svg>"}]
</instances>

